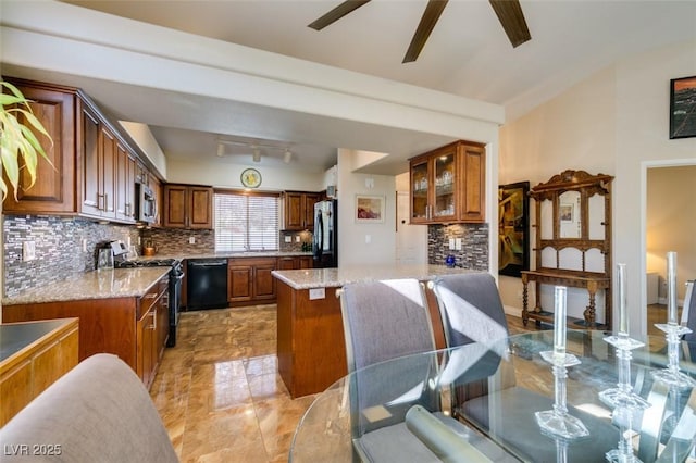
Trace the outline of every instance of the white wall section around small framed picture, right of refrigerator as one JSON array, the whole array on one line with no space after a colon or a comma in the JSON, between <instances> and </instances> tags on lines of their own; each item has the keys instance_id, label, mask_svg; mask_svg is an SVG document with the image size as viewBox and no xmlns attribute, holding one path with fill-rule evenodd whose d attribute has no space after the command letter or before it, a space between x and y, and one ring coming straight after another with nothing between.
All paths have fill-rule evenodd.
<instances>
[{"instance_id":1,"label":"white wall section around small framed picture, right of refrigerator","mask_svg":"<svg viewBox=\"0 0 696 463\"><path fill-rule=\"evenodd\" d=\"M338 150L338 266L389 265L396 262L396 177L355 173L360 153ZM369 180L368 186L365 180ZM384 223L356 223L356 195L383 196ZM370 242L366 242L366 239Z\"/></svg>"}]
</instances>

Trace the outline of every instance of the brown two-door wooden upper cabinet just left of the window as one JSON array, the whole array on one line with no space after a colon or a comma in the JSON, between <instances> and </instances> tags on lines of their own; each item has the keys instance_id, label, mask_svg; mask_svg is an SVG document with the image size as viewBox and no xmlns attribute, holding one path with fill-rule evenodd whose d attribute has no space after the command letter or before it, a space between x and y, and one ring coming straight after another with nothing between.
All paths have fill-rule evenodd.
<instances>
[{"instance_id":1,"label":"brown two-door wooden upper cabinet just left of the window","mask_svg":"<svg viewBox=\"0 0 696 463\"><path fill-rule=\"evenodd\" d=\"M197 185L164 185L164 226L213 227L213 189Z\"/></svg>"}]
</instances>

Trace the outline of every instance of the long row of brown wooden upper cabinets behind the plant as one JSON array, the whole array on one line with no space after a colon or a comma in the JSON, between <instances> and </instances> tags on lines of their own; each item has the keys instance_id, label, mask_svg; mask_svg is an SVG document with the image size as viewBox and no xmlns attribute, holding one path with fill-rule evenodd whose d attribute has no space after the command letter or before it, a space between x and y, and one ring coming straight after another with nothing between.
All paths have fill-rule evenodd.
<instances>
[{"instance_id":1,"label":"long row of brown wooden upper cabinets behind the plant","mask_svg":"<svg viewBox=\"0 0 696 463\"><path fill-rule=\"evenodd\" d=\"M3 212L84 215L135 223L136 182L149 172L138 151L82 90L9 78L33 102L34 115L53 143L36 133L51 164L39 157L38 180L32 188L21 174L17 200L12 195Z\"/></svg>"}]
</instances>

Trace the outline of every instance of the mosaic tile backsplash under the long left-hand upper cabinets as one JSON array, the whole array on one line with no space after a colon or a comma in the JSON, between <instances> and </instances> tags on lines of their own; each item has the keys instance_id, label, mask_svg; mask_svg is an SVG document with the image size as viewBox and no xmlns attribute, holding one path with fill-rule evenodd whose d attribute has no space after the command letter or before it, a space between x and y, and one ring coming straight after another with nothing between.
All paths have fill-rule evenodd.
<instances>
[{"instance_id":1,"label":"mosaic tile backsplash under the long left-hand upper cabinets","mask_svg":"<svg viewBox=\"0 0 696 463\"><path fill-rule=\"evenodd\" d=\"M79 217L3 216L4 296L95 270L97 246L120 239L137 243L134 226L99 224ZM83 240L87 251L83 251ZM36 259L24 262L22 246L34 241Z\"/></svg>"}]
</instances>

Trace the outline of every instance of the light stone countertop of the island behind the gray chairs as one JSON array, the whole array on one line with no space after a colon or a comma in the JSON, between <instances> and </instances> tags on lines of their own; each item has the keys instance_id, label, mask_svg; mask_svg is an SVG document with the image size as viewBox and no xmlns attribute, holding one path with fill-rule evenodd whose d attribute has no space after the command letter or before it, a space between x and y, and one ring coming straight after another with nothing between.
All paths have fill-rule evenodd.
<instances>
[{"instance_id":1,"label":"light stone countertop of the island behind the gray chairs","mask_svg":"<svg viewBox=\"0 0 696 463\"><path fill-rule=\"evenodd\" d=\"M415 278L420 281L440 275L476 272L467 268L450 268L444 265L359 265L338 268L309 268L273 271L272 274L294 289L337 288L348 283L380 279Z\"/></svg>"}]
</instances>

